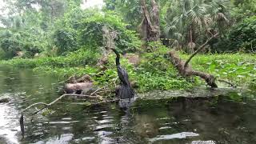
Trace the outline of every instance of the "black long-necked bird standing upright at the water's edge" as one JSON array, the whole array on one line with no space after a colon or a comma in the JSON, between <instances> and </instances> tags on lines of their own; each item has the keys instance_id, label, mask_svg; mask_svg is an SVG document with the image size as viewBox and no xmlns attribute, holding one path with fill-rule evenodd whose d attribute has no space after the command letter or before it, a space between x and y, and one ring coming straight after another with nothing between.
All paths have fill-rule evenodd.
<instances>
[{"instance_id":1,"label":"black long-necked bird standing upright at the water's edge","mask_svg":"<svg viewBox=\"0 0 256 144\"><path fill-rule=\"evenodd\" d=\"M129 76L128 76L126 70L124 68L122 68L122 66L120 66L120 61L119 61L120 54L118 53L117 50L115 50L115 49L112 49L112 50L117 55L117 57L115 59L115 63L116 63L117 69L118 69L118 78L121 81L121 86L119 87L119 89L117 91L117 95L121 99L133 98L134 90L132 90L132 88L130 86Z\"/></svg>"}]
</instances>

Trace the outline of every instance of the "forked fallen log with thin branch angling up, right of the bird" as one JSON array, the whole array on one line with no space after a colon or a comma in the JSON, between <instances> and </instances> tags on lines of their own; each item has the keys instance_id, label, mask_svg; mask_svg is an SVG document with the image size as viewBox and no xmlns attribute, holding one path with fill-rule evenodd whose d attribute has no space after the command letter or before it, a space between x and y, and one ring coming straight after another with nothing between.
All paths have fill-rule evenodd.
<instances>
[{"instance_id":1,"label":"forked fallen log with thin branch angling up, right of the bird","mask_svg":"<svg viewBox=\"0 0 256 144\"><path fill-rule=\"evenodd\" d=\"M170 61L173 63L173 65L176 67L178 70L179 74L181 74L183 77L190 77L190 76L198 76L202 79L204 79L207 83L208 86L212 88L218 88L215 78L211 74L206 74L201 71L193 70L192 67L189 65L189 62L196 54L198 54L199 51L201 51L209 42L212 38L216 38L218 34L214 34L212 37L210 37L202 46L199 46L198 50L194 52L188 58L186 61L182 60L181 58L178 57L176 54L175 50L172 50L169 52L170 56Z\"/></svg>"}]
</instances>

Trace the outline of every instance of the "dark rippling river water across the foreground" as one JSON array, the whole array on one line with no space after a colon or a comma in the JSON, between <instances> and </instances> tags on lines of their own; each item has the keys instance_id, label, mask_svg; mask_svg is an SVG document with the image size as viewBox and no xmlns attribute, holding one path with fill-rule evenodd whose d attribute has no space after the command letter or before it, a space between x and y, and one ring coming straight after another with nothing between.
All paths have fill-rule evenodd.
<instances>
[{"instance_id":1,"label":"dark rippling river water across the foreground","mask_svg":"<svg viewBox=\"0 0 256 144\"><path fill-rule=\"evenodd\" d=\"M58 98L58 77L0 66L0 143L256 143L255 94L215 98L139 100L128 112L117 105L79 106L62 101L49 114L18 114L34 102ZM33 110L33 109L32 109Z\"/></svg>"}]
</instances>

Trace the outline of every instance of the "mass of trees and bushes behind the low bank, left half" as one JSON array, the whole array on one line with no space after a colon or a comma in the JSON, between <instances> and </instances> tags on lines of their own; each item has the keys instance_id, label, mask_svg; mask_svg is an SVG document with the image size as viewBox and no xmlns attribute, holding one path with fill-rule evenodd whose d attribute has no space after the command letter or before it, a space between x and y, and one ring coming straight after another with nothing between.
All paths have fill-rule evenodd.
<instances>
[{"instance_id":1,"label":"mass of trees and bushes behind the low bank, left half","mask_svg":"<svg viewBox=\"0 0 256 144\"><path fill-rule=\"evenodd\" d=\"M14 58L18 51L22 51L22 58L34 58L39 53L42 53L40 56L66 55L83 47L98 52L105 45L102 41L103 26L117 32L115 42L119 50L134 51L141 46L137 34L126 30L127 24L118 14L102 14L97 9L82 10L78 1L28 0L25 3L19 0L10 2L10 6L24 12L0 19L6 26L0 30L0 48L4 50L4 58ZM35 10L35 3L42 8ZM52 13L46 14L50 6L56 7L50 10Z\"/></svg>"}]
</instances>

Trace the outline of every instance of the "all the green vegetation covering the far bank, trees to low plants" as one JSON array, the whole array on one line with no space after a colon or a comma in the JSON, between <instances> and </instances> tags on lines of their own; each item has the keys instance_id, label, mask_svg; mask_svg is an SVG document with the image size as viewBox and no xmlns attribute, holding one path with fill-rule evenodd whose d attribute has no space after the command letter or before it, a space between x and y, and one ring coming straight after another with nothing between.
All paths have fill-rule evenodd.
<instances>
[{"instance_id":1,"label":"all the green vegetation covering the far bank, trees to low plants","mask_svg":"<svg viewBox=\"0 0 256 144\"><path fill-rule=\"evenodd\" d=\"M111 45L122 54L139 55L136 66L122 60L139 91L186 89L201 81L179 77L167 51L180 50L182 58L187 58L210 34L218 34L206 46L207 53L193 59L194 69L238 84L255 82L255 0L158 0L160 42L143 41L139 0L105 0L102 10L82 10L80 0L6 2L3 11L8 14L0 15L2 64L45 70L66 78L90 74L96 83L105 85L117 77L114 55L104 72L96 64L106 53L105 47ZM146 1L146 7L152 11L150 1Z\"/></svg>"}]
</instances>

